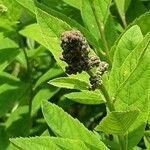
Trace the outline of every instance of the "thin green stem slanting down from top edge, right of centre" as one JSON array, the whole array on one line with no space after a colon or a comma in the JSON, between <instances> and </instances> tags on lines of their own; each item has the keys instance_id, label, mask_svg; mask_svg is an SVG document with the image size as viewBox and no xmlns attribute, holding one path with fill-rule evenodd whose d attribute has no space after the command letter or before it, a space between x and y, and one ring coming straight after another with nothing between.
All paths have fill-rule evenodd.
<instances>
[{"instance_id":1,"label":"thin green stem slanting down from top edge, right of centre","mask_svg":"<svg viewBox=\"0 0 150 150\"><path fill-rule=\"evenodd\" d=\"M94 17L95 17L97 26L98 26L98 30L99 30L100 35L101 35L101 39L102 39L102 42L103 42L103 45L104 45L106 54L107 54L108 58L110 59L108 43L107 43L107 40L106 40L106 37L105 37L104 25L103 25L103 23L100 21L98 15L97 15L97 13L96 13L94 1L93 1L93 0L89 0L89 2L90 2L90 4L91 4L91 8L92 8L92 11L93 11L93 14L94 14Z\"/></svg>"}]
</instances>

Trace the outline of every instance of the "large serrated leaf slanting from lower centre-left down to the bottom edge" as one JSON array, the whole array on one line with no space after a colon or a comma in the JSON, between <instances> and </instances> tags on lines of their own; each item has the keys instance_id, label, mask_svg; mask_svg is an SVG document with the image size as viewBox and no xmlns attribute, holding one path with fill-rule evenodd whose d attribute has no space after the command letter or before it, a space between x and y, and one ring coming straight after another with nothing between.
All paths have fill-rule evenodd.
<instances>
[{"instance_id":1,"label":"large serrated leaf slanting from lower centre-left down to the bottom edge","mask_svg":"<svg viewBox=\"0 0 150 150\"><path fill-rule=\"evenodd\" d=\"M59 137L82 140L93 150L106 150L99 138L55 104L44 101L42 111L46 122ZM59 121L58 121L59 120Z\"/></svg>"}]
</instances>

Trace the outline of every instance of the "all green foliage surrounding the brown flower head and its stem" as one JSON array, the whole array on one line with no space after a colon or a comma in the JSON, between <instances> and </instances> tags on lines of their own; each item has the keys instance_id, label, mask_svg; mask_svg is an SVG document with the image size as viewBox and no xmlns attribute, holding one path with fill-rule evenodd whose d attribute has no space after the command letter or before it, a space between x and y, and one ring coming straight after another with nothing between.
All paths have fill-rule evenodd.
<instances>
[{"instance_id":1,"label":"all green foliage surrounding the brown flower head and its stem","mask_svg":"<svg viewBox=\"0 0 150 150\"><path fill-rule=\"evenodd\" d=\"M119 149L110 134L126 133L128 149L149 149L150 2L94 4L108 47L89 0L0 0L0 150ZM72 28L112 62L103 81L118 112L105 117L106 101L88 91L85 72L64 73L60 34Z\"/></svg>"}]
</instances>

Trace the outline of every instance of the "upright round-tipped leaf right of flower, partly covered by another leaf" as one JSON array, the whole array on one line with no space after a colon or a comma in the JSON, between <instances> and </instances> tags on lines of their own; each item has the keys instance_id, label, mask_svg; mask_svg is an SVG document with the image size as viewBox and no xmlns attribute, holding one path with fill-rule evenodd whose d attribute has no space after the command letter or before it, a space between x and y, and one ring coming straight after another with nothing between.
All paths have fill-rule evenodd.
<instances>
[{"instance_id":1,"label":"upright round-tipped leaf right of flower, partly covered by another leaf","mask_svg":"<svg viewBox=\"0 0 150 150\"><path fill-rule=\"evenodd\" d=\"M110 73L109 84L111 93L115 94L119 86L118 75L124 60L128 54L130 54L130 52L137 46L137 44L142 41L142 39L143 35L140 28L137 25L134 25L129 30L127 30L119 40L117 46L115 47L113 67Z\"/></svg>"}]
</instances>

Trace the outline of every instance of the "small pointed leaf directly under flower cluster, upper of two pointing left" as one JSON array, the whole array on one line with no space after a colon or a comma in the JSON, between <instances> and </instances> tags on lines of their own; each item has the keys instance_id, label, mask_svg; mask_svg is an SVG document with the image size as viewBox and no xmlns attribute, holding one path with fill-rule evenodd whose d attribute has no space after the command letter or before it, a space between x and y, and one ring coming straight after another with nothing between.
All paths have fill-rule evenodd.
<instances>
[{"instance_id":1,"label":"small pointed leaf directly under flower cluster, upper of two pointing left","mask_svg":"<svg viewBox=\"0 0 150 150\"><path fill-rule=\"evenodd\" d=\"M86 82L69 77L55 78L49 81L48 83L60 88L78 89L78 90L88 89L88 84Z\"/></svg>"}]
</instances>

